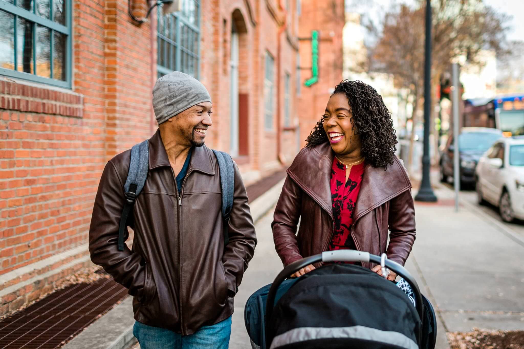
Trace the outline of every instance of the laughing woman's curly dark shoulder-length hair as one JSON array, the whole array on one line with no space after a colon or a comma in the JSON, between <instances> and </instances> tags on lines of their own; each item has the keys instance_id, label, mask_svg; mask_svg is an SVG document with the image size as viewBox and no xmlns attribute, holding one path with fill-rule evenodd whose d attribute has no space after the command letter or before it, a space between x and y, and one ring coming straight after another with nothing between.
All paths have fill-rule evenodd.
<instances>
[{"instance_id":1,"label":"laughing woman's curly dark shoulder-length hair","mask_svg":"<svg viewBox=\"0 0 524 349\"><path fill-rule=\"evenodd\" d=\"M397 135L393 128L391 113L384 104L382 96L375 88L362 81L350 80L343 80L336 85L332 95L337 93L345 94L350 101L353 132L361 138L361 151L366 161L374 167L385 169L387 165L392 165ZM323 123L322 117L305 140L306 148L313 148L328 141Z\"/></svg>"}]
</instances>

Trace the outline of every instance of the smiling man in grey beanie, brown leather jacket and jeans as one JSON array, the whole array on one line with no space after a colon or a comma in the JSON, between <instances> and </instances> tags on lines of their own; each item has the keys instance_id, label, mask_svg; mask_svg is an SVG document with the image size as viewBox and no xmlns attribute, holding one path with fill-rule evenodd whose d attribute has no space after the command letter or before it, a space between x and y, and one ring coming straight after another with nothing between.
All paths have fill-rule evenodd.
<instances>
[{"instance_id":1,"label":"smiling man in grey beanie, brown leather jacket and jeans","mask_svg":"<svg viewBox=\"0 0 524 349\"><path fill-rule=\"evenodd\" d=\"M89 231L93 263L129 289L141 348L227 348L233 297L256 245L238 167L224 244L220 170L204 139L211 97L193 77L173 72L153 89L159 124L149 139L149 170L130 218L133 249L118 249L130 151L105 166Z\"/></svg>"}]
</instances>

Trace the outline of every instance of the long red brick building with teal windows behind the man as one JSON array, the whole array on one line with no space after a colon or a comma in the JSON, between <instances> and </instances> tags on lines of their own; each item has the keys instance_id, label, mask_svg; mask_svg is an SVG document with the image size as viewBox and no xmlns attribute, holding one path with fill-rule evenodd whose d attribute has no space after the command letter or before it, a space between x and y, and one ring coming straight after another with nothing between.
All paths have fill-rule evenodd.
<instances>
[{"instance_id":1,"label":"long red brick building with teal windows behind the man","mask_svg":"<svg viewBox=\"0 0 524 349\"><path fill-rule=\"evenodd\" d=\"M0 0L0 316L90 264L101 172L155 132L158 76L208 88L206 143L248 183L293 159L341 80L342 0L181 0L141 24L129 12L143 18L147 4L131 4ZM312 30L319 81L305 87Z\"/></svg>"}]
</instances>

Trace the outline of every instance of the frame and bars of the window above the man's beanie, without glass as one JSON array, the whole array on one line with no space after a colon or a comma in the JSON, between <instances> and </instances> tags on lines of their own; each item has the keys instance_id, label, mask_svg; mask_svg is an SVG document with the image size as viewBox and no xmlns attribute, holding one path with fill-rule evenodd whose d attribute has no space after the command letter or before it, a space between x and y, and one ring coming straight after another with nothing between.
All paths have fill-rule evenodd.
<instances>
[{"instance_id":1,"label":"frame and bars of the window above the man's beanie, without glass","mask_svg":"<svg viewBox=\"0 0 524 349\"><path fill-rule=\"evenodd\" d=\"M181 68L182 68L182 51L185 53L185 54L188 54L190 55L193 59L195 59L195 75L194 75L194 78L196 78L197 80L200 79L200 40L201 40L201 29L200 29L200 24L201 24L201 1L200 0L181 0L184 2L184 4L182 6L185 6L185 4L187 4L188 2L193 2L195 3L196 7L198 8L198 10L196 11L196 25L194 24L191 24L188 20L188 18L186 18L184 15L183 15L183 10L181 12L174 12L174 13L171 13L171 14L168 14L166 16L164 16L162 14L162 6L158 6L158 12L157 12L157 77L160 77L160 74L162 75L166 75L166 74L169 74L169 73L172 73L172 72L175 72L175 71L178 71L178 72L183 72L183 73L187 73L187 71L182 71ZM176 35L175 35L175 38L174 38L174 41L169 39L168 37L166 37L165 35L163 35L163 33L160 33L159 31L159 20L160 20L160 16L163 16L163 17L167 17L167 16L172 16L172 20L174 21L174 24L173 26L176 27ZM196 40L196 53L194 52L191 52L191 50L189 50L188 48L185 48L185 47L182 47L182 44L181 44L181 31L182 31L182 27L183 26L187 26L190 30L192 30L196 36L197 36L197 40ZM171 59L174 60L173 62L173 65L174 65L174 70L171 70L169 69L168 67L165 67L163 65L160 65L160 42L161 40L165 41L166 42L166 46L169 47L169 50L172 50L171 52L174 54L174 57L172 57ZM164 51L164 59L166 59L166 52L167 50Z\"/></svg>"}]
</instances>

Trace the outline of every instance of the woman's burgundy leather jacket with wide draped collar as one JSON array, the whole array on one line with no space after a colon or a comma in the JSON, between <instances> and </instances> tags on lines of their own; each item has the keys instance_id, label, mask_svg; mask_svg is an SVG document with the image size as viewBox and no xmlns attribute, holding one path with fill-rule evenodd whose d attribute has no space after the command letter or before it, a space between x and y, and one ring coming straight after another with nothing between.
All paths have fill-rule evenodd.
<instances>
[{"instance_id":1,"label":"woman's burgundy leather jacket with wide draped collar","mask_svg":"<svg viewBox=\"0 0 524 349\"><path fill-rule=\"evenodd\" d=\"M329 143L304 148L287 171L271 224L275 247L285 266L328 248L333 233L333 157ZM386 246L388 229L390 242ZM411 182L397 157L386 171L366 165L351 236L359 251L376 255L386 252L389 259L401 265L406 262L415 240L415 212ZM369 268L374 265L363 264Z\"/></svg>"}]
</instances>

